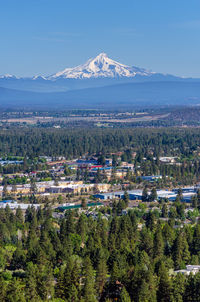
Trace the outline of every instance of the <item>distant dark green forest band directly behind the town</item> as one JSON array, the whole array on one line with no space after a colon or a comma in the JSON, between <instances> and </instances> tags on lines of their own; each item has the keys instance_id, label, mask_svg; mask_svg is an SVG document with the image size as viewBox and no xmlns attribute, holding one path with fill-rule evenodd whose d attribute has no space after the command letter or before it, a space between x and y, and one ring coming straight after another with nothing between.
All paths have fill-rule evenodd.
<instances>
[{"instance_id":1,"label":"distant dark green forest band directly behind the town","mask_svg":"<svg viewBox=\"0 0 200 302\"><path fill-rule=\"evenodd\" d=\"M147 154L190 155L200 142L198 128L27 129L0 131L0 155L77 157L126 148Z\"/></svg>"}]
</instances>

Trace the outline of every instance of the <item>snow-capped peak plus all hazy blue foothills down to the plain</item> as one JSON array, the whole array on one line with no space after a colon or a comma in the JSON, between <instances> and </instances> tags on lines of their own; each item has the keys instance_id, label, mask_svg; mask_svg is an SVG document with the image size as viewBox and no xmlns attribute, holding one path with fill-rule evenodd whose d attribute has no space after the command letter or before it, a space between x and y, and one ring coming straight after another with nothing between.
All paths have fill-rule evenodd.
<instances>
[{"instance_id":1,"label":"snow-capped peak plus all hazy blue foothills down to the plain","mask_svg":"<svg viewBox=\"0 0 200 302\"><path fill-rule=\"evenodd\" d=\"M127 66L105 53L51 76L0 76L1 108L111 109L199 103L200 79Z\"/></svg>"}]
</instances>

